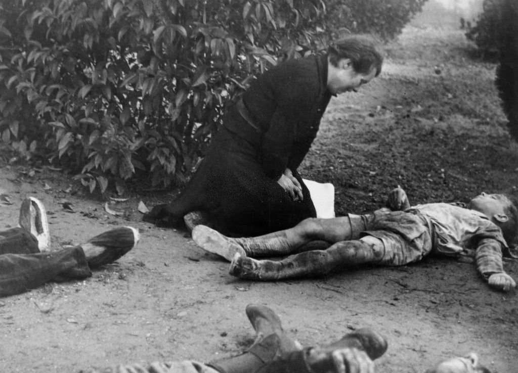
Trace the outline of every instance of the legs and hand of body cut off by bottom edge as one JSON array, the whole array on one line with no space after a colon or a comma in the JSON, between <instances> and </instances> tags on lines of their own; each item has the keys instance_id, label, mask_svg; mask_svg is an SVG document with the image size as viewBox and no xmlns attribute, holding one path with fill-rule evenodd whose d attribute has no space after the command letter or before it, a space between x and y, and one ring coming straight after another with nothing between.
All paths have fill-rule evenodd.
<instances>
[{"instance_id":1,"label":"legs and hand of body cut off by bottom edge","mask_svg":"<svg viewBox=\"0 0 518 373\"><path fill-rule=\"evenodd\" d=\"M208 365L184 361L152 363L147 367L137 364L120 365L110 370L87 372L373 373L372 360L383 355L387 349L386 340L369 329L347 334L328 346L303 349L298 342L285 335L279 317L270 308L252 304L247 306L246 311L255 329L256 339L252 347L242 355Z\"/></svg>"}]
</instances>

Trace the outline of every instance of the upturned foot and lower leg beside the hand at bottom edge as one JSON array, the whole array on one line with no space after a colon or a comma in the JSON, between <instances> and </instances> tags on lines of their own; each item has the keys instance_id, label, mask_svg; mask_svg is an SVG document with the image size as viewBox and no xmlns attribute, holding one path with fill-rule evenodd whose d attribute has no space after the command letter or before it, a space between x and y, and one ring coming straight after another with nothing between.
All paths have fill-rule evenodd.
<instances>
[{"instance_id":1,"label":"upturned foot and lower leg beside the hand at bottom edge","mask_svg":"<svg viewBox=\"0 0 518 373\"><path fill-rule=\"evenodd\" d=\"M284 334L281 321L273 310L249 304L246 312L256 332L254 344L242 355L213 362L210 366L222 373L253 373L282 355L301 350L298 342Z\"/></svg>"}]
</instances>

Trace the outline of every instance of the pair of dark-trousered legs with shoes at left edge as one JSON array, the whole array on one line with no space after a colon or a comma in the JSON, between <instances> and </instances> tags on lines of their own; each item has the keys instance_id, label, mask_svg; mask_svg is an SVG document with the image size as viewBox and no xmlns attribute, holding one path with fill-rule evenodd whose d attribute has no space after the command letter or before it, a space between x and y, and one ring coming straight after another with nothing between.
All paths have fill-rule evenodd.
<instances>
[{"instance_id":1,"label":"pair of dark-trousered legs with shoes at left edge","mask_svg":"<svg viewBox=\"0 0 518 373\"><path fill-rule=\"evenodd\" d=\"M48 251L49 241L45 237L50 235L46 221L43 204L30 197L20 208L21 227L0 232L0 296L18 294L48 281L89 277L91 268L119 259L139 240L138 230L122 227L101 233L82 245ZM38 241L31 232L42 234L42 240ZM46 251L39 252L39 247Z\"/></svg>"}]
</instances>

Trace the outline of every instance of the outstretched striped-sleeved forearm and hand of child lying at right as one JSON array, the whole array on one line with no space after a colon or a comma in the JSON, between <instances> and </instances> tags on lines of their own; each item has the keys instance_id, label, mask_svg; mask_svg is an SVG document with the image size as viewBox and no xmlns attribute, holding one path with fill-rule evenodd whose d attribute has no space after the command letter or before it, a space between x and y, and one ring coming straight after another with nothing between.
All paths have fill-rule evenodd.
<instances>
[{"instance_id":1,"label":"outstretched striped-sleeved forearm and hand of child lying at right","mask_svg":"<svg viewBox=\"0 0 518 373\"><path fill-rule=\"evenodd\" d=\"M495 289L509 291L516 287L516 282L503 270L502 246L493 238L483 238L476 253L477 269Z\"/></svg>"}]
</instances>

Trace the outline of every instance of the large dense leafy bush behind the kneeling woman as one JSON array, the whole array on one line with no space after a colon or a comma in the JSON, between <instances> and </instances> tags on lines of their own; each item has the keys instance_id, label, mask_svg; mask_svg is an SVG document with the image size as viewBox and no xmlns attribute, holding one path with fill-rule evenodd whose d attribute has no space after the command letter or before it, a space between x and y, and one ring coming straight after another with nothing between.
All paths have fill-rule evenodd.
<instances>
[{"instance_id":1,"label":"large dense leafy bush behind the kneeling woman","mask_svg":"<svg viewBox=\"0 0 518 373\"><path fill-rule=\"evenodd\" d=\"M2 2L0 136L91 191L183 183L253 76L343 26L395 35L424 1Z\"/></svg>"}]
</instances>

